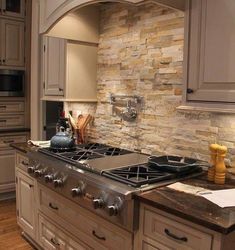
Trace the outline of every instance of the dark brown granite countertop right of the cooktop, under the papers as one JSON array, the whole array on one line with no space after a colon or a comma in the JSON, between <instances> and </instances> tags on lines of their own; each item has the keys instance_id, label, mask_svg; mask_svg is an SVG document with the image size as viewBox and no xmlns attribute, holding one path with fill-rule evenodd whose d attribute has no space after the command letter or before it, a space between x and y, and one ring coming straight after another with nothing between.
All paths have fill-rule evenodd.
<instances>
[{"instance_id":1,"label":"dark brown granite countertop right of the cooktop, under the papers","mask_svg":"<svg viewBox=\"0 0 235 250\"><path fill-rule=\"evenodd\" d=\"M206 174L181 182L206 189L219 190L235 188L235 179L233 178L228 176L225 185L208 182ZM160 187L138 194L135 198L164 212L222 234L228 234L235 230L235 207L221 208L203 197L167 187Z\"/></svg>"}]
</instances>

